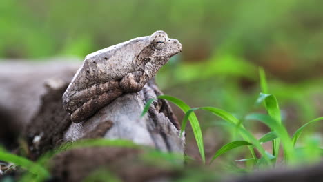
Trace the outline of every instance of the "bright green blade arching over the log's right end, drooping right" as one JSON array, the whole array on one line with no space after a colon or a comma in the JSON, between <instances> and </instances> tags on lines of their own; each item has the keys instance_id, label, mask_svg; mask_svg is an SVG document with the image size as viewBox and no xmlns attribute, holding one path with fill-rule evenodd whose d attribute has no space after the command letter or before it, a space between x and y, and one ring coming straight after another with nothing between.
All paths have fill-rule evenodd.
<instances>
[{"instance_id":1,"label":"bright green blade arching over the log's right end, drooping right","mask_svg":"<svg viewBox=\"0 0 323 182\"><path fill-rule=\"evenodd\" d=\"M188 106L186 103L184 103L184 101L177 99L175 97L171 97L168 95L161 95L161 96L157 97L157 99L166 99L168 101L171 101L172 103L177 105L184 113L186 113L190 110L190 106ZM145 114L148 111L147 108L149 108L149 105L152 102L153 101L148 101L146 103L146 105L145 105L146 110L144 109L144 111L141 115ZM204 143L203 143L202 130L201 130L201 127L199 126L199 121L197 120L197 117L194 114L194 112L192 114L189 114L188 119L190 121L190 125L192 126L192 130L193 130L193 134L195 136L197 147L199 148L199 154L201 155L203 163L205 163ZM186 127L186 123L185 123L185 125L182 124L181 133L180 133L181 136L182 136L182 133L184 132L185 127Z\"/></svg>"}]
</instances>

